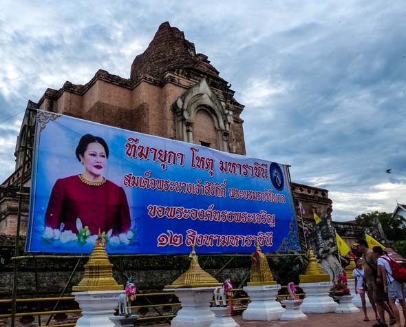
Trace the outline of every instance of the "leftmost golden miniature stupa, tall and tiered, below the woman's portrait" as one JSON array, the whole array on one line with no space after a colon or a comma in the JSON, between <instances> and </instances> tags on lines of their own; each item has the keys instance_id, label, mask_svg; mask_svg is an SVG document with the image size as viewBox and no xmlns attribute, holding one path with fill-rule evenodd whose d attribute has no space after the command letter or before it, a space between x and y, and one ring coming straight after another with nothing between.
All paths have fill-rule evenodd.
<instances>
[{"instance_id":1,"label":"leftmost golden miniature stupa, tall and tiered, below the woman's portrait","mask_svg":"<svg viewBox=\"0 0 406 327\"><path fill-rule=\"evenodd\" d=\"M101 239L96 241L89 261L84 266L83 279L78 286L72 287L72 291L120 291L124 289L124 286L118 285L113 277L113 264L109 262L103 241Z\"/></svg>"}]
</instances>

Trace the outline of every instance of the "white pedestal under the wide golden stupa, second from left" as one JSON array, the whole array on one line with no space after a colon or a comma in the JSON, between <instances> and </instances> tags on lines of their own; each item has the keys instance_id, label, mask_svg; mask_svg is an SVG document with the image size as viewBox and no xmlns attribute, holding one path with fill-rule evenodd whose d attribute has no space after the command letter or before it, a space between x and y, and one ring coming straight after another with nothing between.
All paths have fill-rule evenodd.
<instances>
[{"instance_id":1,"label":"white pedestal under the wide golden stupa, second from left","mask_svg":"<svg viewBox=\"0 0 406 327\"><path fill-rule=\"evenodd\" d=\"M174 291L182 308L172 319L172 327L209 327L213 324L215 314L210 310L215 287L170 288Z\"/></svg>"}]
</instances>

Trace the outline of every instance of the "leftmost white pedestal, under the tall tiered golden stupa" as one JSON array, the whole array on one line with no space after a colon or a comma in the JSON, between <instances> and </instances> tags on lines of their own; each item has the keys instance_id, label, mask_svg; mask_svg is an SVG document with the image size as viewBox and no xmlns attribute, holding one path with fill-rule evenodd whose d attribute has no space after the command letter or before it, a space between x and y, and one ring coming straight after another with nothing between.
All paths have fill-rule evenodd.
<instances>
[{"instance_id":1,"label":"leftmost white pedestal, under the tall tiered golden stupa","mask_svg":"<svg viewBox=\"0 0 406 327\"><path fill-rule=\"evenodd\" d=\"M114 327L109 318L114 315L122 291L73 292L75 301L83 310L76 327Z\"/></svg>"}]
</instances>

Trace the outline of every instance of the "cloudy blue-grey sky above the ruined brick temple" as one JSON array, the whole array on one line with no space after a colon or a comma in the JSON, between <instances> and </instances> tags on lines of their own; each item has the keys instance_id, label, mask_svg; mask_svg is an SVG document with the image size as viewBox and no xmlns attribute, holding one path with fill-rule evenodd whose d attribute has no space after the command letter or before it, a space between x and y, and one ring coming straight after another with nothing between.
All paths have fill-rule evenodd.
<instances>
[{"instance_id":1,"label":"cloudy blue-grey sky above the ruined brick temple","mask_svg":"<svg viewBox=\"0 0 406 327\"><path fill-rule=\"evenodd\" d=\"M160 23L246 106L248 156L330 191L333 220L406 203L406 1L0 2L0 182L28 100L98 69L129 78ZM385 173L392 169L392 173Z\"/></svg>"}]
</instances>

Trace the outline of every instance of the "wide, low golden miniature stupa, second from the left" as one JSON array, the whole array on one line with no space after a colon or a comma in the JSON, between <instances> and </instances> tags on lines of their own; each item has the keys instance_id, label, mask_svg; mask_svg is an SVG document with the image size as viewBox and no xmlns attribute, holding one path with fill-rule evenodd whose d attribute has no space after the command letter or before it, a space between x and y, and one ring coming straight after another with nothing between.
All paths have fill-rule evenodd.
<instances>
[{"instance_id":1,"label":"wide, low golden miniature stupa, second from the left","mask_svg":"<svg viewBox=\"0 0 406 327\"><path fill-rule=\"evenodd\" d=\"M192 245L192 251L189 258L191 259L189 269L185 273L182 273L182 275L180 275L171 285L165 286L165 288L222 286L222 283L209 273L206 273L206 271L200 267L194 245Z\"/></svg>"}]
</instances>

